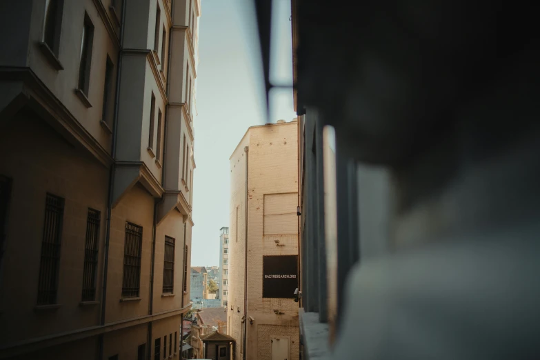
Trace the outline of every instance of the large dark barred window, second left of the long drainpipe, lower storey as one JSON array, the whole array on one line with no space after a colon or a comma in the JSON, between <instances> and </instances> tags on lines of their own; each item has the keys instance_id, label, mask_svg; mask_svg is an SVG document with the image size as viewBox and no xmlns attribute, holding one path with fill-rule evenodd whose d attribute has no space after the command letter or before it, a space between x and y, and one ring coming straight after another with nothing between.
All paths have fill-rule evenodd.
<instances>
[{"instance_id":1,"label":"large dark barred window, second left of the long drainpipe, lower storey","mask_svg":"<svg viewBox=\"0 0 540 360\"><path fill-rule=\"evenodd\" d=\"M39 263L38 305L57 303L63 206L63 198L47 194Z\"/></svg>"}]
</instances>

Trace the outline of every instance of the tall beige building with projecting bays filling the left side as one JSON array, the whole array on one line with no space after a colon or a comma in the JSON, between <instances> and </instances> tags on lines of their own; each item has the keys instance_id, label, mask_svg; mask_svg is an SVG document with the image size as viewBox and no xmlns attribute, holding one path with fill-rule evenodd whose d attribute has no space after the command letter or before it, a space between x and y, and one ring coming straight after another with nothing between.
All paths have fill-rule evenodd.
<instances>
[{"instance_id":1,"label":"tall beige building with projecting bays filling the left side","mask_svg":"<svg viewBox=\"0 0 540 360\"><path fill-rule=\"evenodd\" d=\"M179 357L200 15L0 2L0 358Z\"/></svg>"}]
</instances>

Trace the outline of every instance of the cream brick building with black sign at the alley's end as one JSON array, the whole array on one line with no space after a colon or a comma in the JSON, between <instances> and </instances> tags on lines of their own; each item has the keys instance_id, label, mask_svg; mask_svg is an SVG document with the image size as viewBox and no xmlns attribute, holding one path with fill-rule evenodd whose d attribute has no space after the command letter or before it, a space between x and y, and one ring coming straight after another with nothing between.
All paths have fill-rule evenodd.
<instances>
[{"instance_id":1,"label":"cream brick building with black sign at the alley's end","mask_svg":"<svg viewBox=\"0 0 540 360\"><path fill-rule=\"evenodd\" d=\"M297 128L283 120L252 126L230 157L235 360L299 359Z\"/></svg>"}]
</instances>

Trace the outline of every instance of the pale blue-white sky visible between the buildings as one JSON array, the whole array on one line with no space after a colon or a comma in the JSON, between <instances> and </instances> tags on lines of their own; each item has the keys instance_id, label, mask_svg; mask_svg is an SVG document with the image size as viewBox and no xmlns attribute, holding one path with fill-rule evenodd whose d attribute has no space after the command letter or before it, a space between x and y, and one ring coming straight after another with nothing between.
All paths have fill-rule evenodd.
<instances>
[{"instance_id":1,"label":"pale blue-white sky visible between the buildings","mask_svg":"<svg viewBox=\"0 0 540 360\"><path fill-rule=\"evenodd\" d=\"M273 83L292 84L290 0L272 9ZM219 229L229 226L229 157L248 127L266 119L253 0L201 0L194 120L192 266L219 265ZM270 121L291 121L292 90L274 90Z\"/></svg>"}]
</instances>

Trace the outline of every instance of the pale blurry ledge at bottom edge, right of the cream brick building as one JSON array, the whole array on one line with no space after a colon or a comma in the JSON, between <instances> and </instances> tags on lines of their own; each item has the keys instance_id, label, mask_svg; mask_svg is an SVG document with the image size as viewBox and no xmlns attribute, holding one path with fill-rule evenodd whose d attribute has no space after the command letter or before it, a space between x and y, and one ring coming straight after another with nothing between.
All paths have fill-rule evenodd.
<instances>
[{"instance_id":1,"label":"pale blurry ledge at bottom edge, right of the cream brick building","mask_svg":"<svg viewBox=\"0 0 540 360\"><path fill-rule=\"evenodd\" d=\"M328 323L319 322L318 312L299 309L301 337L306 359L330 359Z\"/></svg>"}]
</instances>

